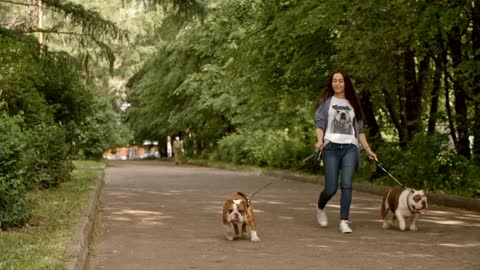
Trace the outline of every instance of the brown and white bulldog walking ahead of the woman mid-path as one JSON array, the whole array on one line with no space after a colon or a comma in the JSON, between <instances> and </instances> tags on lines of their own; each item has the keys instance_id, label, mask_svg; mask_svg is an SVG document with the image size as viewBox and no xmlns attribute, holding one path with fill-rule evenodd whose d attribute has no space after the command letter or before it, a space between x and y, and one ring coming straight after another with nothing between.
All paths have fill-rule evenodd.
<instances>
[{"instance_id":1,"label":"brown and white bulldog walking ahead of the woman mid-path","mask_svg":"<svg viewBox=\"0 0 480 270\"><path fill-rule=\"evenodd\" d=\"M223 207L223 224L227 240L240 239L250 230L250 240L260 241L257 236L255 217L250 200L241 192L233 193ZM241 231L240 231L241 229Z\"/></svg>"}]
</instances>

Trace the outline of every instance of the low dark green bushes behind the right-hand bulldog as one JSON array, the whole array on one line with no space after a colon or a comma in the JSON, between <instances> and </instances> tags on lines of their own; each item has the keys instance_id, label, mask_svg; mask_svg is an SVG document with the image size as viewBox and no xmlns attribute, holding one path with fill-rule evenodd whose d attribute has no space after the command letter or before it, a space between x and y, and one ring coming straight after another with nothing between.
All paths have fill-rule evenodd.
<instances>
[{"instance_id":1,"label":"low dark green bushes behind the right-hand bulldog","mask_svg":"<svg viewBox=\"0 0 480 270\"><path fill-rule=\"evenodd\" d=\"M383 144L377 154L385 169L405 186L480 197L479 168L455 153L448 136L419 134L406 150L394 144ZM381 177L375 181L397 185L379 168L377 170Z\"/></svg>"}]
</instances>

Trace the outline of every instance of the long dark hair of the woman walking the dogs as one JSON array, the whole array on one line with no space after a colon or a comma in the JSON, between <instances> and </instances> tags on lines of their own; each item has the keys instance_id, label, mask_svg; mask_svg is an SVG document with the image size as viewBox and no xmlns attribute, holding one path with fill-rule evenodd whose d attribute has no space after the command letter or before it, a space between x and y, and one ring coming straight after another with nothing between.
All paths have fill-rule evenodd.
<instances>
[{"instance_id":1,"label":"long dark hair of the woman walking the dogs","mask_svg":"<svg viewBox=\"0 0 480 270\"><path fill-rule=\"evenodd\" d=\"M362 120L363 113L362 113L362 108L360 106L360 102L358 101L358 98L357 98L357 93L355 93L355 89L353 88L353 83L352 83L352 80L350 79L350 76L348 76L348 73L346 73L343 70L337 69L330 74L327 88L325 88L322 95L320 96L320 101L317 104L317 108L318 106L320 106L320 104L324 103L329 97L335 94L335 92L333 91L332 81L333 81L333 75L337 73L340 73L343 76L343 82L345 84L345 98L348 100L348 102L350 102L350 105L352 105L353 111L355 112L355 118L357 120Z\"/></svg>"}]
</instances>

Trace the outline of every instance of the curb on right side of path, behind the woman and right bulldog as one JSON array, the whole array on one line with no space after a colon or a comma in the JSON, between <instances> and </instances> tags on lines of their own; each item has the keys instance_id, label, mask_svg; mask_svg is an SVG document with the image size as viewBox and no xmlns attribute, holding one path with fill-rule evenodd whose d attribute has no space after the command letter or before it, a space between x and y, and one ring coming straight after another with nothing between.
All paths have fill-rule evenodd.
<instances>
[{"instance_id":1,"label":"curb on right side of path, behind the woman and right bulldog","mask_svg":"<svg viewBox=\"0 0 480 270\"><path fill-rule=\"evenodd\" d=\"M322 176L306 176L299 175L289 171L282 170L265 170L262 172L262 175L276 177L281 179L307 182L312 184L323 185ZM374 185L369 183L355 183L353 189L360 192L367 192L382 196L388 186ZM441 205L446 207L461 208L466 210L480 211L480 200L474 198L466 198L455 195L439 194L439 193L427 193L428 203Z\"/></svg>"}]
</instances>

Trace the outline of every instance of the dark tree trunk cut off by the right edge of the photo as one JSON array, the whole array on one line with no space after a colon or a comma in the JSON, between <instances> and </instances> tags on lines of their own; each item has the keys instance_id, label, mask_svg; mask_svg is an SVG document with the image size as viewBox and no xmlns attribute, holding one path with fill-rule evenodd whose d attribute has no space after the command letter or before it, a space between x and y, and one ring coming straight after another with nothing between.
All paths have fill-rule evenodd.
<instances>
[{"instance_id":1,"label":"dark tree trunk cut off by the right edge of the photo","mask_svg":"<svg viewBox=\"0 0 480 270\"><path fill-rule=\"evenodd\" d=\"M475 1L472 12L473 30L472 30L472 46L475 62L480 62L480 2ZM480 71L475 74L476 83L473 89L474 95L474 121L473 121L473 158L480 163Z\"/></svg>"}]
</instances>

